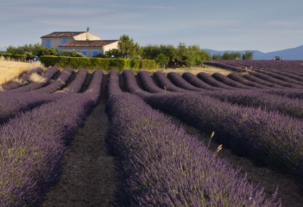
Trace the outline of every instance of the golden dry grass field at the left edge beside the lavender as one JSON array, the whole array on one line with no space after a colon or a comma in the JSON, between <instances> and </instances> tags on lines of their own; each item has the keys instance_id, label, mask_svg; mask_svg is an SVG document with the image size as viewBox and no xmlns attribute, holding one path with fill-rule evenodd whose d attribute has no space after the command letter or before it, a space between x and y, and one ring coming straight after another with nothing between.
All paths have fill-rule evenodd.
<instances>
[{"instance_id":1,"label":"golden dry grass field at the left edge beside the lavender","mask_svg":"<svg viewBox=\"0 0 303 207\"><path fill-rule=\"evenodd\" d=\"M46 69L41 63L26 63L19 61L5 61L4 59L0 60L0 85L6 84L14 78L21 76L26 71L30 71L31 69L36 69L37 67L41 67L42 69Z\"/></svg>"}]
</instances>

